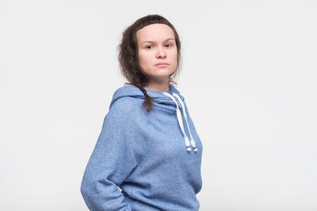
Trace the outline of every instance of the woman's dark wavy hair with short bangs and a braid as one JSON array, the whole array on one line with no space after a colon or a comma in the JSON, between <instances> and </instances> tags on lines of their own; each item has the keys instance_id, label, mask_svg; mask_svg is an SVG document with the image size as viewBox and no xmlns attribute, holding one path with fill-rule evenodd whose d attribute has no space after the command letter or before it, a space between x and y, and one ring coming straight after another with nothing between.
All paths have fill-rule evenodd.
<instances>
[{"instance_id":1,"label":"woman's dark wavy hair with short bangs and a braid","mask_svg":"<svg viewBox=\"0 0 317 211\"><path fill-rule=\"evenodd\" d=\"M147 111L151 111L154 104L153 99L147 95L144 89L148 82L148 78L142 73L140 69L138 58L138 40L136 33L139 29L155 23L166 24L170 26L174 31L177 46L177 68L175 72L170 75L169 84L176 85L175 78L179 74L181 65L181 43L176 29L166 18L160 15L147 15L136 20L123 32L121 44L118 46L118 60L120 63L121 72L123 76L128 80L128 82L132 83L143 92L145 96L143 106L146 108Z\"/></svg>"}]
</instances>

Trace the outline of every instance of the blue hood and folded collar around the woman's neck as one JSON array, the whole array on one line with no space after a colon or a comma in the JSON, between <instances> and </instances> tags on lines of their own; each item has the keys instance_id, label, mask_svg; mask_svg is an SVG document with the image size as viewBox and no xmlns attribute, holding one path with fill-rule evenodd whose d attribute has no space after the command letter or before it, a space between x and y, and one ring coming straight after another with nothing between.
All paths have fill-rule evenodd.
<instances>
[{"instance_id":1,"label":"blue hood and folded collar around the woman's neck","mask_svg":"<svg viewBox=\"0 0 317 211\"><path fill-rule=\"evenodd\" d=\"M153 109L159 109L167 112L175 112L176 110L176 104L175 102L168 96L166 96L163 92L155 92L148 90L145 88L148 96L150 96L153 99L154 107ZM184 102L184 97L180 95L180 92L174 87L170 86L170 91L167 91L166 93L169 93L170 95L173 95L174 93L177 94L180 99ZM143 92L136 86L131 85L130 83L125 83L125 85L115 91L113 94L110 108L112 104L122 98L122 97L135 97L144 100L145 96ZM182 105L180 103L177 103L178 107L182 109Z\"/></svg>"}]
</instances>

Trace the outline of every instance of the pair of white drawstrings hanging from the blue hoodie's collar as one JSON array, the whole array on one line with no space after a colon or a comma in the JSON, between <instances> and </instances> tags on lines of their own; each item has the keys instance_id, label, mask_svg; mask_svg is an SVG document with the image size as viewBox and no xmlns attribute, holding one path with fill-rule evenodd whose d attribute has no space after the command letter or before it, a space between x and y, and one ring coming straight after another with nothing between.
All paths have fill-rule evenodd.
<instances>
[{"instance_id":1,"label":"pair of white drawstrings hanging from the blue hoodie's collar","mask_svg":"<svg viewBox=\"0 0 317 211\"><path fill-rule=\"evenodd\" d=\"M186 144L186 147L187 147L187 151L191 151L191 148L190 148L190 144L192 146L192 148L194 149L194 152L196 152L198 149L196 148L196 145L195 145L195 141L194 139L192 138L191 136L191 133L190 133L190 130L189 130L189 125L188 125L188 121L187 121L187 115L186 115L186 110L185 109L185 106L182 102L182 100L180 99L180 97L176 94L176 93L173 93L173 96L175 96L177 98L177 100L181 103L182 105L182 110L183 110L183 113L184 113L184 117L186 119L186 123L187 123L187 127L188 127L188 131L189 131L189 135L190 135L190 143L189 143L189 140L188 140L188 137L186 136L185 134L185 130L184 130L184 124L183 124L183 120L182 120L182 114L181 114L181 111L178 107L178 104L175 100L175 98L173 98L173 96L167 92L163 92L164 95L170 97L174 103L176 104L176 115L177 115L177 119L178 119L178 123L179 123L179 126L183 132L183 136L184 136L184 140L185 140L185 144Z\"/></svg>"}]
</instances>

